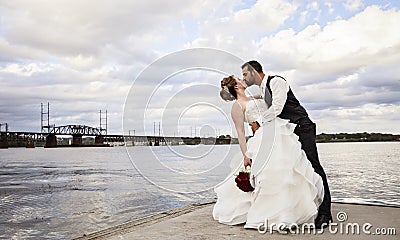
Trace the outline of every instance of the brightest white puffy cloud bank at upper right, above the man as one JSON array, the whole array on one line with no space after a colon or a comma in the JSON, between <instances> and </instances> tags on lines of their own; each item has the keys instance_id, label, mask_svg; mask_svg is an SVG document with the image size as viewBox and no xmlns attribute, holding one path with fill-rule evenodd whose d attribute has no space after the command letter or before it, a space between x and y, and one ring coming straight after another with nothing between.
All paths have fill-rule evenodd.
<instances>
[{"instance_id":1,"label":"brightest white puffy cloud bank at upper right, above the man","mask_svg":"<svg viewBox=\"0 0 400 240\"><path fill-rule=\"evenodd\" d=\"M282 30L260 41L261 54L287 59L286 66L313 71L344 71L398 57L400 33L398 10L368 7L349 20L337 20L321 27L317 24L296 33ZM384 37L382 37L384 36ZM282 64L282 63L280 63ZM284 63L283 63L284 64Z\"/></svg>"}]
</instances>

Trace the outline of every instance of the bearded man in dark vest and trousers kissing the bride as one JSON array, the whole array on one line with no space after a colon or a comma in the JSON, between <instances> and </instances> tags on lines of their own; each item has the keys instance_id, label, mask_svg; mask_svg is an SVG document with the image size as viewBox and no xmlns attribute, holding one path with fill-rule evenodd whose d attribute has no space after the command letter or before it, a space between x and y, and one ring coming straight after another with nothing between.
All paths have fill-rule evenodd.
<instances>
[{"instance_id":1,"label":"bearded man in dark vest and trousers kissing the bride","mask_svg":"<svg viewBox=\"0 0 400 240\"><path fill-rule=\"evenodd\" d=\"M288 119L297 125L294 133L299 136L301 148L306 153L314 171L321 176L324 183L324 200L319 207L315 227L318 229L327 227L332 221L331 194L325 171L318 158L315 123L310 120L307 111L300 105L283 77L266 76L261 64L257 61L243 64L242 73L247 86L256 84L260 87L261 95L269 107L260 119L252 123L253 132L263 123L272 121L276 117Z\"/></svg>"}]
</instances>

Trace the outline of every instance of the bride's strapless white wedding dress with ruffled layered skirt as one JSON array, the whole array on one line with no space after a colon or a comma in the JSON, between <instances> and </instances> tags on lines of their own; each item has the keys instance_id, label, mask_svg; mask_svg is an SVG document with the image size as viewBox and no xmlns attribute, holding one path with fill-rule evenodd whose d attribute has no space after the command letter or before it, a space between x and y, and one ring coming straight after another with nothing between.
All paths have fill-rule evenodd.
<instances>
[{"instance_id":1,"label":"bride's strapless white wedding dress with ruffled layered skirt","mask_svg":"<svg viewBox=\"0 0 400 240\"><path fill-rule=\"evenodd\" d=\"M263 99L246 104L245 121L256 121L267 110ZM257 229L268 221L268 227L314 223L324 197L321 177L314 172L298 136L295 125L276 118L261 126L247 142L247 156L252 159L253 192L241 191L235 183L243 166L241 153L231 164L232 174L215 187L217 202L213 217L220 223Z\"/></svg>"}]
</instances>

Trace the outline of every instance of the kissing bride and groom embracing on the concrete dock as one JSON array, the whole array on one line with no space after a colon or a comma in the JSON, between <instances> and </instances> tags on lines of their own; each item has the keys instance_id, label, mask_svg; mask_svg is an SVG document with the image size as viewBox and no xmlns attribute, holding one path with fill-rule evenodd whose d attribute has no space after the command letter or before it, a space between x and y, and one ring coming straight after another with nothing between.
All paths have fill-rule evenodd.
<instances>
[{"instance_id":1,"label":"kissing bride and groom embracing on the concrete dock","mask_svg":"<svg viewBox=\"0 0 400 240\"><path fill-rule=\"evenodd\" d=\"M221 98L234 101L231 117L243 161L214 188L214 219L252 229L266 221L272 226L327 227L332 221L331 197L318 159L315 124L283 77L266 76L257 61L243 64L242 74L243 79L230 76L221 81ZM254 84L261 95L247 96L245 89ZM253 131L247 143L245 123ZM244 192L236 185L235 173L248 166L254 190Z\"/></svg>"}]
</instances>

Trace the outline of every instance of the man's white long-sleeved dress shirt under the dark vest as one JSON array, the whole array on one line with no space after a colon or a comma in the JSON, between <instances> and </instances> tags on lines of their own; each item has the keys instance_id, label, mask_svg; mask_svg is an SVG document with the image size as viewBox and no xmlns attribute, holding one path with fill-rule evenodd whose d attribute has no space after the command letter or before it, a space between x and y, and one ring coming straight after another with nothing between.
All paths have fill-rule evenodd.
<instances>
[{"instance_id":1,"label":"man's white long-sleeved dress shirt under the dark vest","mask_svg":"<svg viewBox=\"0 0 400 240\"><path fill-rule=\"evenodd\" d=\"M263 98L265 97L264 95L267 89L267 79L268 76L265 76L260 85L261 96ZM281 114L286 103L287 93L289 92L289 83L280 77L274 77L271 79L269 85L272 92L272 105L257 120L260 125L274 120L279 114Z\"/></svg>"}]
</instances>

